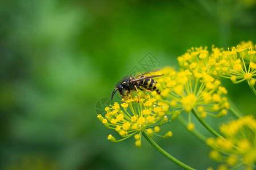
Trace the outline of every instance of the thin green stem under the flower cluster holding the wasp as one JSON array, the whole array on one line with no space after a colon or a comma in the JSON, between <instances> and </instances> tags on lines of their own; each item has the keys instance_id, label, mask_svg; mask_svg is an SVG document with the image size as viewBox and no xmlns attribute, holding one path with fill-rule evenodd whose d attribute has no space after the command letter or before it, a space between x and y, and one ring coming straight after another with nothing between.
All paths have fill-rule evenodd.
<instances>
[{"instance_id":1,"label":"thin green stem under the flower cluster holding the wasp","mask_svg":"<svg viewBox=\"0 0 256 170\"><path fill-rule=\"evenodd\" d=\"M188 165L180 162L179 160L177 160L176 158L174 158L173 156L171 156L170 154L168 154L166 151L164 151L159 145L157 145L155 143L155 141L153 141L153 139L151 139L150 137L148 137L146 131L142 132L143 136L147 139L147 141L154 147L156 148L156 150L158 150L162 155L166 156L166 158L170 159L172 162L174 162L177 165L180 165L181 167L185 168L185 169L192 169L195 170L194 168L189 167Z\"/></svg>"}]
</instances>

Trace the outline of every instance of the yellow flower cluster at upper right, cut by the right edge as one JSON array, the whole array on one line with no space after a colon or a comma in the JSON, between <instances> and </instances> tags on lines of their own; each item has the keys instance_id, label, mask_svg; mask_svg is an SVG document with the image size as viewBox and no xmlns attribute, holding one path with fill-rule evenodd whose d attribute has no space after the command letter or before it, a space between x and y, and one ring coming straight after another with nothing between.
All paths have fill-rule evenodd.
<instances>
[{"instance_id":1,"label":"yellow flower cluster at upper right, cut by the right edge","mask_svg":"<svg viewBox=\"0 0 256 170\"><path fill-rule=\"evenodd\" d=\"M208 73L232 80L233 83L247 81L254 91L256 76L256 50L253 42L242 41L231 50L212 46L212 52L205 47L191 48L178 57L179 65L193 73Z\"/></svg>"}]
</instances>

